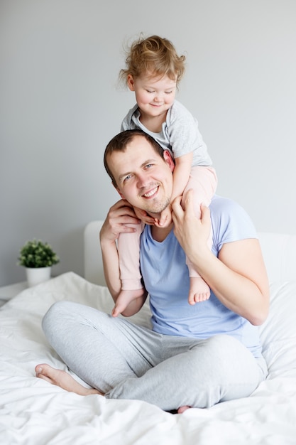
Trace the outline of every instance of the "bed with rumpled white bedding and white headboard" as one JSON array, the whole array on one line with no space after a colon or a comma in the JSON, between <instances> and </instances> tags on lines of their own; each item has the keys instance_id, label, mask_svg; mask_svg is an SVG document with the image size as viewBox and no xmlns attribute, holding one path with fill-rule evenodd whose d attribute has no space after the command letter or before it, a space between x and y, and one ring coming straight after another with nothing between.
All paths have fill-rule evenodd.
<instances>
[{"instance_id":1,"label":"bed with rumpled white bedding and white headboard","mask_svg":"<svg viewBox=\"0 0 296 445\"><path fill-rule=\"evenodd\" d=\"M4 445L296 444L296 235L260 233L271 306L261 326L268 379L241 400L170 414L140 400L83 397L35 377L38 363L66 366L50 348L41 319L58 300L110 312L99 229L84 231L84 277L68 272L25 289L0 309L0 443ZM146 304L133 316L150 326Z\"/></svg>"}]
</instances>

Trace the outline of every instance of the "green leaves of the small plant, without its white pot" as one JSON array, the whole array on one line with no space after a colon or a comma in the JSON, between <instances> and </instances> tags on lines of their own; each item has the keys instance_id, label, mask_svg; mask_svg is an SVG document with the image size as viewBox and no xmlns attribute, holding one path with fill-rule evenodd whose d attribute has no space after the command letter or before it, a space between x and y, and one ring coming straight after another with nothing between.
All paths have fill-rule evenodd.
<instances>
[{"instance_id":1,"label":"green leaves of the small plant, without its white pot","mask_svg":"<svg viewBox=\"0 0 296 445\"><path fill-rule=\"evenodd\" d=\"M47 242L40 240L27 241L21 247L18 265L24 267L49 267L60 262L60 258L53 252Z\"/></svg>"}]
</instances>

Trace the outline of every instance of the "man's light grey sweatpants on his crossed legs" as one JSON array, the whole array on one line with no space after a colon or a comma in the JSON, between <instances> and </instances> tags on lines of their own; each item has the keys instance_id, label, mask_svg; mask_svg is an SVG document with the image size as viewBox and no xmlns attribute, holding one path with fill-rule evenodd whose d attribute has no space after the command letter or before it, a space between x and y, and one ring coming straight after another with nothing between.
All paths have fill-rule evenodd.
<instances>
[{"instance_id":1,"label":"man's light grey sweatpants on his crossed legs","mask_svg":"<svg viewBox=\"0 0 296 445\"><path fill-rule=\"evenodd\" d=\"M263 358L231 336L165 336L70 301L49 309L43 330L68 368L107 398L167 411L248 397L266 376Z\"/></svg>"}]
</instances>

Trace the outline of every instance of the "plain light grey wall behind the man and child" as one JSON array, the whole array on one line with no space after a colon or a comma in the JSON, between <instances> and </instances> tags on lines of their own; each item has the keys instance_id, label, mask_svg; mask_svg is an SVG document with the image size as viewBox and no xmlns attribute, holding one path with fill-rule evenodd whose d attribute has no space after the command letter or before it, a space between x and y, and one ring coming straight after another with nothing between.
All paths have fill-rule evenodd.
<instances>
[{"instance_id":1,"label":"plain light grey wall behind the man and child","mask_svg":"<svg viewBox=\"0 0 296 445\"><path fill-rule=\"evenodd\" d=\"M33 237L83 274L82 232L117 199L102 164L133 94L116 86L143 31L187 53L178 99L258 230L295 233L294 0L1 0L0 285Z\"/></svg>"}]
</instances>

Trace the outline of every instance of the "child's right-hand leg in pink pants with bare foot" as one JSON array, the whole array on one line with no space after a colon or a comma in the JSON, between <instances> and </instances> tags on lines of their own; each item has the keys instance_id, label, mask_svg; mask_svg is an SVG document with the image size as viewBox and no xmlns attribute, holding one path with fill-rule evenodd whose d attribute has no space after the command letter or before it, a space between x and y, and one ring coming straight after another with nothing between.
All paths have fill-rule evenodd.
<instances>
[{"instance_id":1,"label":"child's right-hand leg in pink pants with bare foot","mask_svg":"<svg viewBox=\"0 0 296 445\"><path fill-rule=\"evenodd\" d=\"M194 210L200 218L200 205L209 205L216 191L216 172L212 167L196 166L192 168L190 180L187 183L186 191L192 188L194 190ZM212 249L212 230L208 240L209 248ZM193 264L187 258L187 266L190 275L190 294L188 300L190 304L209 299L210 289L204 279L194 269Z\"/></svg>"}]
</instances>

